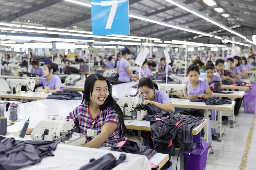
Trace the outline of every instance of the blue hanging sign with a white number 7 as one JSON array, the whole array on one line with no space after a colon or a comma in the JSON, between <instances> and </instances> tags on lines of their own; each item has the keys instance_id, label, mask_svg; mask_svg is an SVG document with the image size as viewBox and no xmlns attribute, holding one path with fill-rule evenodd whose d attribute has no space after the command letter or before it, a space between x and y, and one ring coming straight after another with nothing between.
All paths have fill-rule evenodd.
<instances>
[{"instance_id":1,"label":"blue hanging sign with a white number 7","mask_svg":"<svg viewBox=\"0 0 256 170\"><path fill-rule=\"evenodd\" d=\"M92 35L129 35L128 0L91 0Z\"/></svg>"}]
</instances>

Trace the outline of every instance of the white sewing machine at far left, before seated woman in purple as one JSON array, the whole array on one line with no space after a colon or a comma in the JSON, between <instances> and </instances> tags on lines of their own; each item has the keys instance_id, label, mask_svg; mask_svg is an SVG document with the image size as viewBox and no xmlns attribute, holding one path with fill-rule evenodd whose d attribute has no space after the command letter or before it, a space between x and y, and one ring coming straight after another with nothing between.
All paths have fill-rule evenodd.
<instances>
[{"instance_id":1,"label":"white sewing machine at far left, before seated woman in purple","mask_svg":"<svg viewBox=\"0 0 256 170\"><path fill-rule=\"evenodd\" d=\"M5 80L10 87L10 89L13 89L15 87L16 92L21 91L21 86L27 86L28 91L33 91L35 88L35 80L34 79L6 79ZM13 92L13 90L11 90Z\"/></svg>"}]
</instances>

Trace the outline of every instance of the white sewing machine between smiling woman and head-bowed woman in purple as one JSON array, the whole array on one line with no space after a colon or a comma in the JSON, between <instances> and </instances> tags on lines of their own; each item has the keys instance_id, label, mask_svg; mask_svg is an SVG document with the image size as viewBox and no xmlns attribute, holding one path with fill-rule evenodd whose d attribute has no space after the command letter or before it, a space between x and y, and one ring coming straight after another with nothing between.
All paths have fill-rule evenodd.
<instances>
[{"instance_id":1,"label":"white sewing machine between smiling woman and head-bowed woman in purple","mask_svg":"<svg viewBox=\"0 0 256 170\"><path fill-rule=\"evenodd\" d=\"M148 114L148 110L141 110L137 107L141 106L141 97L122 97L117 101L124 113L124 119L127 120L143 120Z\"/></svg>"}]
</instances>

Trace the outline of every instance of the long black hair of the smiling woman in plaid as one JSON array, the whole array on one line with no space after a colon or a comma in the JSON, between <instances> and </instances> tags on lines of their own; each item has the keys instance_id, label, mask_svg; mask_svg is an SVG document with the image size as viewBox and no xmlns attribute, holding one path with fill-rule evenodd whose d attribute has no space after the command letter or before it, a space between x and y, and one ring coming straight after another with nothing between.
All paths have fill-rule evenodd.
<instances>
[{"instance_id":1,"label":"long black hair of the smiling woman in plaid","mask_svg":"<svg viewBox=\"0 0 256 170\"><path fill-rule=\"evenodd\" d=\"M108 85L108 92L109 95L106 98L106 101L103 103L103 105L100 106L101 110L105 110L107 107L111 107L112 109L115 109L119 118L120 126L119 126L119 135L120 137L125 136L125 125L124 125L124 114L119 105L116 103L114 98L112 97L110 93L110 84L107 81L105 77L103 77L100 74L92 74L88 76L84 83L84 95L82 103L90 103L90 95L92 95L93 92L93 86L96 80L106 81Z\"/></svg>"}]
</instances>

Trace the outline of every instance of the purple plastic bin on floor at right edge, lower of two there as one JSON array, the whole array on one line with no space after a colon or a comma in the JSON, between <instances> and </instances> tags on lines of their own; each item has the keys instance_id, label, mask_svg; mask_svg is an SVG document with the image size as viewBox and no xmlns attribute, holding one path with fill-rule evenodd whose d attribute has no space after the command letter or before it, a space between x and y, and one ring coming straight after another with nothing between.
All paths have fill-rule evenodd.
<instances>
[{"instance_id":1,"label":"purple plastic bin on floor at right edge, lower of two there","mask_svg":"<svg viewBox=\"0 0 256 170\"><path fill-rule=\"evenodd\" d=\"M256 94L245 93L244 95L244 112L256 114Z\"/></svg>"}]
</instances>

